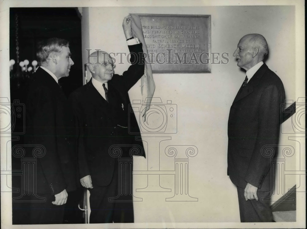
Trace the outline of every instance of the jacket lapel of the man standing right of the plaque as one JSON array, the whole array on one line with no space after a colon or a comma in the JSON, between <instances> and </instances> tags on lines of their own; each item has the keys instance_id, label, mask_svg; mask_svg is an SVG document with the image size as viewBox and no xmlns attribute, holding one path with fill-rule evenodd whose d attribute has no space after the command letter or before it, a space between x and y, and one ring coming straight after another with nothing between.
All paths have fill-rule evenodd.
<instances>
[{"instance_id":1,"label":"jacket lapel of the man standing right of the plaque","mask_svg":"<svg viewBox=\"0 0 307 229\"><path fill-rule=\"evenodd\" d=\"M256 73L253 75L251 80L247 83L245 87L240 88L238 94L236 95L234 101L232 104L236 103L237 101L243 99L247 95L251 94L254 90L254 88L259 84L260 79L262 78L263 74L267 70L267 66L265 63L262 64L262 66L256 71Z\"/></svg>"}]
</instances>

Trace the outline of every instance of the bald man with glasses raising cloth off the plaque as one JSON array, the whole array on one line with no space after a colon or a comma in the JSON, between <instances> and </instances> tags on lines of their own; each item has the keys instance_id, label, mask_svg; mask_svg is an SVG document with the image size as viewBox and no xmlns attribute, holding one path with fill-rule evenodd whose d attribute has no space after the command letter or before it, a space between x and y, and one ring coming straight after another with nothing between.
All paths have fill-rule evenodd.
<instances>
[{"instance_id":1,"label":"bald man with glasses raising cloth off the plaque","mask_svg":"<svg viewBox=\"0 0 307 229\"><path fill-rule=\"evenodd\" d=\"M70 96L78 123L80 182L90 191L90 223L134 222L130 152L134 148L139 149L138 155L145 157L145 153L142 141L128 132L129 124L130 130L140 133L135 116L129 116L128 90L142 77L145 67L142 44L132 37L132 21L131 16L123 21L132 64L128 70L114 74L110 55L95 51L87 60L90 82ZM121 168L119 158L130 166Z\"/></svg>"}]
</instances>

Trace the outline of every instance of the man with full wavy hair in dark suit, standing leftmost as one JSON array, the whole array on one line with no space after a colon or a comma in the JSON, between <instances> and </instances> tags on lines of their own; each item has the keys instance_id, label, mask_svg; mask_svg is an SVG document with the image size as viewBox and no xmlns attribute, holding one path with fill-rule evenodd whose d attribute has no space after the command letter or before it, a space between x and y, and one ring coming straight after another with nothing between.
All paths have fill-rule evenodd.
<instances>
[{"instance_id":1,"label":"man with full wavy hair in dark suit, standing leftmost","mask_svg":"<svg viewBox=\"0 0 307 229\"><path fill-rule=\"evenodd\" d=\"M45 202L30 203L32 224L63 223L64 204L69 191L76 190L76 139L72 109L58 84L67 77L74 62L69 43L50 38L39 44L40 67L29 83L25 103L25 144L41 145L45 152L36 161L36 187L25 187ZM29 156L32 152L28 152Z\"/></svg>"}]
</instances>

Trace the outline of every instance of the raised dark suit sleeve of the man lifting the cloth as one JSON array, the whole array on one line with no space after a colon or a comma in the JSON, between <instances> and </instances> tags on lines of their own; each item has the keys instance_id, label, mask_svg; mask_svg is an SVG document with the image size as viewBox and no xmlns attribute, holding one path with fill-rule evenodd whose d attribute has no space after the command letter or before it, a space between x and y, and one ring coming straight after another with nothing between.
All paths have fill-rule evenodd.
<instances>
[{"instance_id":1,"label":"raised dark suit sleeve of the man lifting the cloth","mask_svg":"<svg viewBox=\"0 0 307 229\"><path fill-rule=\"evenodd\" d=\"M136 82L144 75L145 60L142 44L128 46L130 51L130 67L123 74L114 75L111 82L120 87L120 90L128 92Z\"/></svg>"}]
</instances>

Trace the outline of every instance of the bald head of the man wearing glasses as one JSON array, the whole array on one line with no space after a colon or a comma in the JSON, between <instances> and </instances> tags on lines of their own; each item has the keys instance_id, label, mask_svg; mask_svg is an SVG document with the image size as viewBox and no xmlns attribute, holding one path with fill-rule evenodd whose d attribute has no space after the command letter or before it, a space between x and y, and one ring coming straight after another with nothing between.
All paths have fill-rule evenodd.
<instances>
[{"instance_id":1,"label":"bald head of the man wearing glasses","mask_svg":"<svg viewBox=\"0 0 307 229\"><path fill-rule=\"evenodd\" d=\"M95 51L87 58L87 68L92 77L99 82L105 83L111 80L114 74L114 67L114 61L107 52Z\"/></svg>"}]
</instances>

